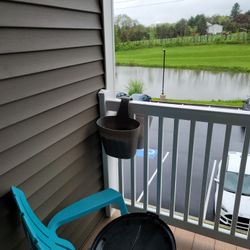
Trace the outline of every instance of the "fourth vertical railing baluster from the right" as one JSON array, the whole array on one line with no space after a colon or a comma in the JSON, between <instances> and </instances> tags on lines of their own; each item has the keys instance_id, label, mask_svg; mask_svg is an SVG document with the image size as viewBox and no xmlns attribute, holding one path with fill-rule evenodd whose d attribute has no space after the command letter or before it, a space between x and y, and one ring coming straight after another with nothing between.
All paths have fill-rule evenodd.
<instances>
[{"instance_id":1,"label":"fourth vertical railing baluster from the right","mask_svg":"<svg viewBox=\"0 0 250 250\"><path fill-rule=\"evenodd\" d=\"M188 167L187 167L187 177L186 177L184 221L187 221L188 215L189 215L191 179L192 179L192 169L193 169L194 132L195 132L195 121L192 120L190 123L190 132L189 132Z\"/></svg>"}]
</instances>

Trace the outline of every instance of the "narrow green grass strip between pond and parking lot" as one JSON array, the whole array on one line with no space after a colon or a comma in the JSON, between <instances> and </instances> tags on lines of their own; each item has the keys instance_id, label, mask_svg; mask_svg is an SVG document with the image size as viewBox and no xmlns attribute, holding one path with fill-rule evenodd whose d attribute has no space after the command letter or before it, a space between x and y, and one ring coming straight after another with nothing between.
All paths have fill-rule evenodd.
<instances>
[{"instance_id":1,"label":"narrow green grass strip between pond and parking lot","mask_svg":"<svg viewBox=\"0 0 250 250\"><path fill-rule=\"evenodd\" d=\"M152 101L159 102L160 98L152 98ZM160 101L162 102L162 101ZM220 106L220 107L229 107L229 108L242 108L244 100L178 100L178 99L166 99L166 103L175 103L175 104L191 104L191 105L204 105L204 106Z\"/></svg>"}]
</instances>

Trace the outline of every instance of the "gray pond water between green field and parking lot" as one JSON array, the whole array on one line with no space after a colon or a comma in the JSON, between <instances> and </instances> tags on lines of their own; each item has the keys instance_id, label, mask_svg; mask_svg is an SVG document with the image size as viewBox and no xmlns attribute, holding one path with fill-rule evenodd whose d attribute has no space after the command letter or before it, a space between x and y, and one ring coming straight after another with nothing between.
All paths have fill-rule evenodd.
<instances>
[{"instance_id":1,"label":"gray pond water between green field and parking lot","mask_svg":"<svg viewBox=\"0 0 250 250\"><path fill-rule=\"evenodd\" d=\"M130 80L141 80L144 93L159 97L162 69L117 66L115 91L127 92ZM170 99L231 100L250 97L250 74L166 69L165 94Z\"/></svg>"}]
</instances>

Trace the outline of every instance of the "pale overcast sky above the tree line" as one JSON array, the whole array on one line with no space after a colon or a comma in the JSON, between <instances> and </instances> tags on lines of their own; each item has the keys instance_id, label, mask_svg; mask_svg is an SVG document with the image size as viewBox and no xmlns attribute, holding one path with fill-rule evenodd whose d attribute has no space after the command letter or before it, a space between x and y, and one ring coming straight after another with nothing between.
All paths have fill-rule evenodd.
<instances>
[{"instance_id":1,"label":"pale overcast sky above the tree line","mask_svg":"<svg viewBox=\"0 0 250 250\"><path fill-rule=\"evenodd\" d=\"M230 15L235 2L243 12L250 10L250 0L113 0L115 15L127 14L144 25L174 23L181 18L205 14Z\"/></svg>"}]
</instances>

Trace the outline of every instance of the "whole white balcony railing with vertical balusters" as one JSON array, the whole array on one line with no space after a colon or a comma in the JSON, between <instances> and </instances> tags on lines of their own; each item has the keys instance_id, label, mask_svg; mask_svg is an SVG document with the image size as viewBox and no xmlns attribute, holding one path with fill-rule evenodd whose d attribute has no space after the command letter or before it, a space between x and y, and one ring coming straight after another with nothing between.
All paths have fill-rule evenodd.
<instances>
[{"instance_id":1,"label":"whole white balcony railing with vertical balusters","mask_svg":"<svg viewBox=\"0 0 250 250\"><path fill-rule=\"evenodd\" d=\"M106 115L108 111L117 111L119 107L119 99L108 97L108 91L101 91L99 93L100 100L100 112L101 116ZM233 109L219 109L211 107L194 107L194 106L183 106L183 105L171 105L171 104L158 104L158 103L147 103L147 102L136 102L132 101L129 104L129 111L131 114L144 116L144 156L143 156L143 171L141 175L138 174L136 167L136 158L130 160L130 166L128 166L128 160L126 160L126 172L127 168L130 168L130 174L124 175L124 160L119 159L116 163L115 159L107 157L103 153L104 160L104 179L106 187L115 187L119 188L119 191L125 196L125 200L128 206L129 211L138 212L138 211L151 211L157 213L164 221L168 224L177 226L192 232L203 234L208 237L213 237L218 240L222 240L228 243L237 244L242 247L249 248L250 246L250 230L239 230L237 227L238 215L240 210L240 201L243 188L243 180L246 170L246 161L249 152L249 141L250 141L250 114L242 110L233 110ZM158 154L157 162L155 163L156 171L149 179L149 116L153 116L154 119L158 122L157 128L157 145L158 145ZM167 155L163 154L163 144L165 141L170 140L170 137L167 138L164 136L164 122L167 119L173 121L173 129L171 130L172 134L172 152L171 152L171 162L169 168L171 168L170 176L170 192L169 206L164 207L162 205L163 198L163 182L166 176L163 175L163 162ZM176 210L176 195L178 190L178 146L179 146L179 132L180 132L180 123L188 121L188 130L189 133L185 136L188 136L187 145L188 149L186 150L186 177L185 177L185 189L183 208L182 211ZM198 127L198 124L206 124L202 127L204 134L204 158L202 160L202 166L200 166L200 176L201 176L201 185L200 190L192 189L192 181L194 174L194 162L195 162L195 133ZM222 143L217 143L217 134L215 133L215 128L217 126L223 126L225 129L223 131ZM230 139L232 137L232 131L238 127L242 128L243 139L242 143L239 146L237 142L237 147L241 148L242 157L240 163L240 172L237 183L237 191L235 195L235 202L233 205L233 214L231 226L225 226L220 223L221 216L221 206L223 200L223 190L224 190L224 181L225 173L227 169L228 161L228 152L230 150ZM183 134L183 133L182 133ZM206 219L207 211L207 194L211 194L211 181L209 181L208 176L215 174L215 170L211 173L211 150L213 148L212 140L215 141L215 144L221 144L220 148L222 151L221 162L220 162L220 173L219 173L219 188L217 203L215 204L215 215L212 220ZM218 139L219 140L219 139ZM216 145L216 147L218 147ZM183 161L182 161L183 162ZM184 161L185 162L185 161ZM117 164L117 165L116 165ZM183 164L183 163L182 163ZM213 164L212 164L213 165ZM216 165L216 161L214 161ZM115 174L116 170L118 171L117 175ZM136 176L137 173L137 176ZM130 180L128 179L128 176ZM142 180L143 178L143 180ZM152 181L152 178L156 179L156 189L155 189L155 202L149 202L149 181ZM136 189L138 188L138 180L143 182L141 197L143 199L138 199L138 194L136 195ZM124 192L124 180L126 183L125 188L129 190L129 194ZM212 179L213 181L213 179ZM129 184L128 184L129 183ZM128 188L127 185L130 185ZM250 185L250 183L249 183ZM164 185L165 188L165 185ZM196 192L196 194L193 194ZM198 212L196 216L190 215L190 200L191 195L200 195L199 202L196 204ZM214 197L214 196L213 196ZM212 197L212 199L213 199ZM250 198L250 197L249 197ZM250 209L250 208L249 208Z\"/></svg>"}]
</instances>

